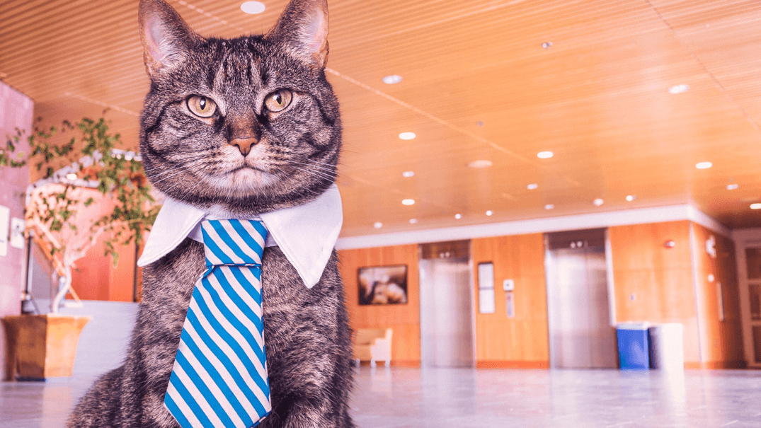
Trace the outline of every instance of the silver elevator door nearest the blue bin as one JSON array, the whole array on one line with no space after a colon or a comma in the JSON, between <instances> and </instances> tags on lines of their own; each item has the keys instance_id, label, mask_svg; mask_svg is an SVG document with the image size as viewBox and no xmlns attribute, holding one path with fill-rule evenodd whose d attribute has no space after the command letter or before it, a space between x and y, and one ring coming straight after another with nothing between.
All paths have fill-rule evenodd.
<instances>
[{"instance_id":1,"label":"silver elevator door nearest the blue bin","mask_svg":"<svg viewBox=\"0 0 761 428\"><path fill-rule=\"evenodd\" d=\"M547 279L552 367L616 367L605 247L549 250Z\"/></svg>"}]
</instances>

